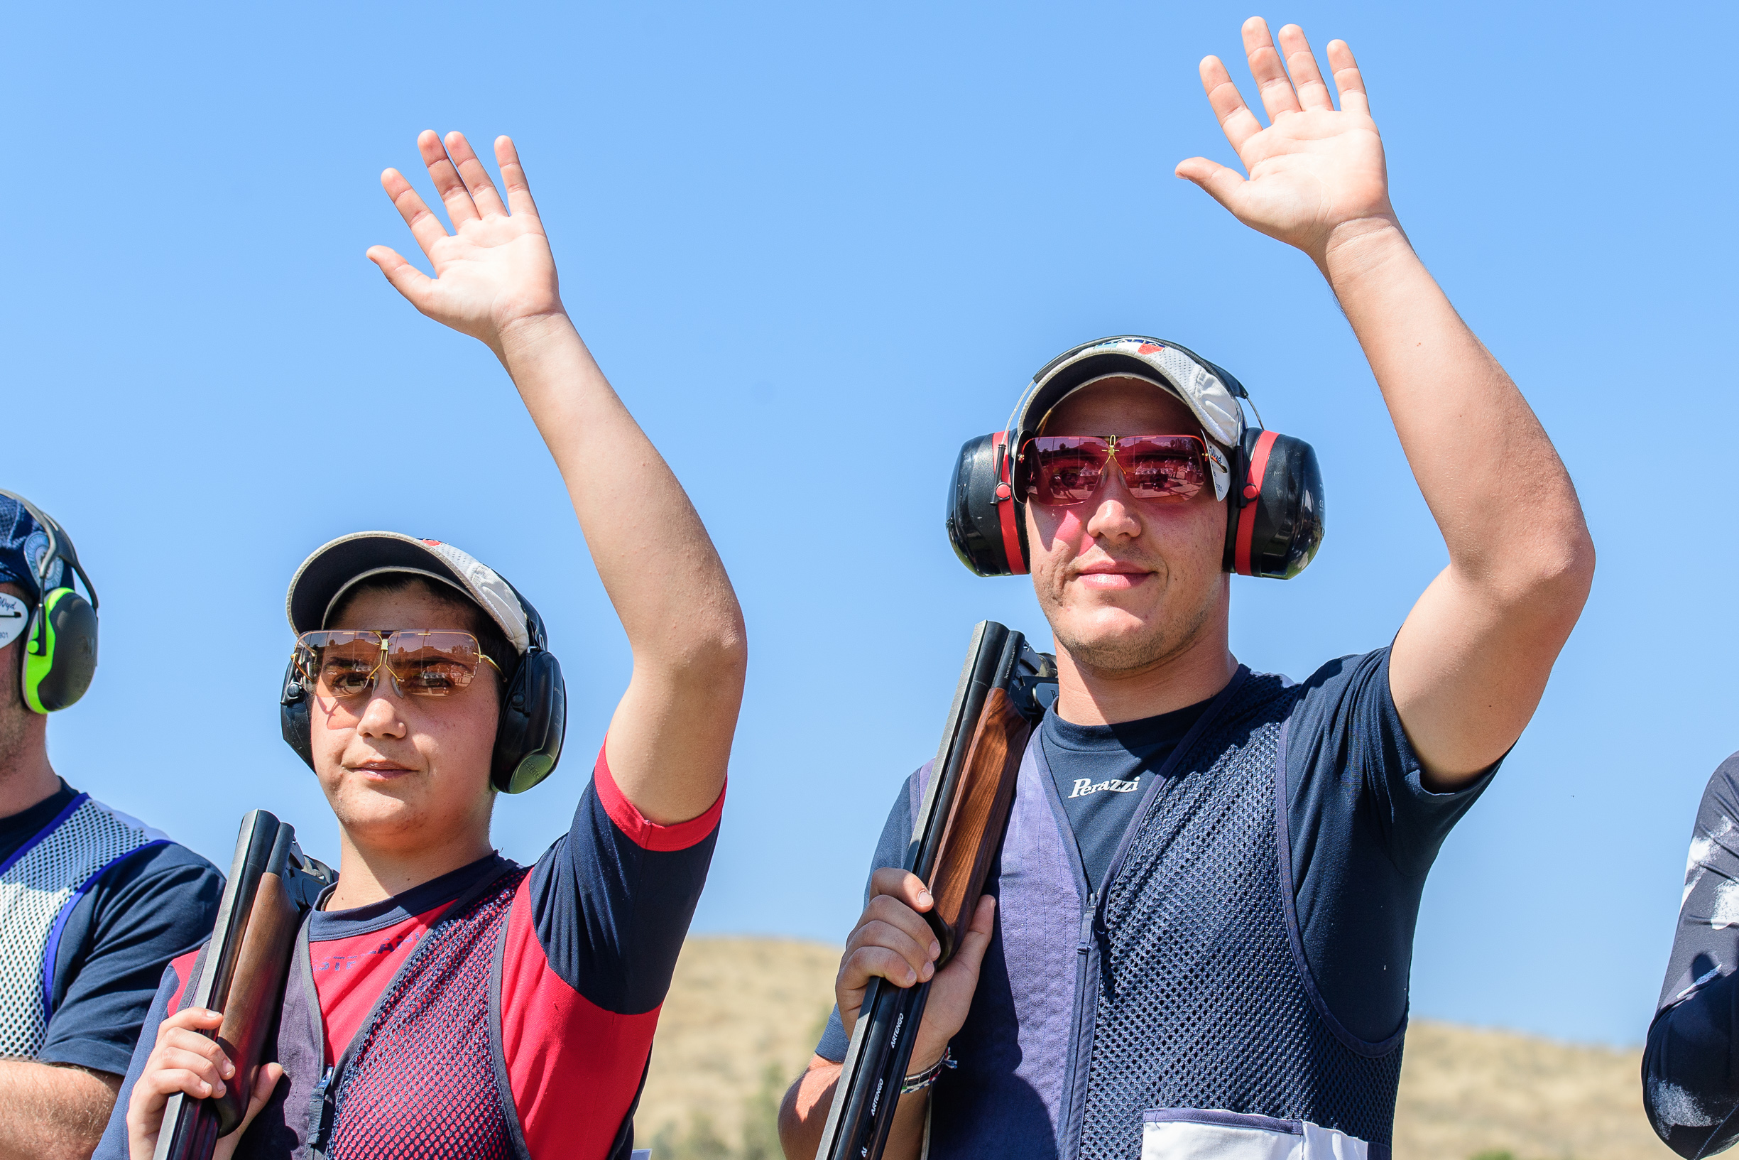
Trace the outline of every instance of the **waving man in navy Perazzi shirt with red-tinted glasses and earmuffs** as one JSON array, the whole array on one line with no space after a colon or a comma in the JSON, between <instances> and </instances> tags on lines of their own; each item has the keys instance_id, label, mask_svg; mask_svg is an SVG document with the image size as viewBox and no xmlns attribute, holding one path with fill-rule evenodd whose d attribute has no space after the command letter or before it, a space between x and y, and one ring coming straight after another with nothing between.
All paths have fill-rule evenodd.
<instances>
[{"instance_id":1,"label":"waving man in navy Perazzi shirt with red-tinted glasses and earmuffs","mask_svg":"<svg viewBox=\"0 0 1739 1160\"><path fill-rule=\"evenodd\" d=\"M1228 643L1228 572L1296 572L1320 506L1294 494L1292 548L1256 567L1259 517L1233 489L1308 483L1303 459L1247 438L1242 388L1172 344L1049 363L1009 435L962 452L960 492L1000 482L955 543L979 572L1031 572L1059 696L941 969L930 894L901 868L929 767L908 779L835 1017L781 1108L791 1160L816 1157L873 977L930 981L889 1157L1388 1157L1426 871L1534 713L1593 546L1546 433L1395 219L1346 43L1329 45L1336 110L1297 26L1276 50L1250 19L1243 42L1269 127L1219 59L1202 82L1249 179L1205 158L1177 174L1318 264L1449 567L1389 647L1301 685L1252 673ZM1014 471L976 475L972 449L1010 437Z\"/></svg>"}]
</instances>

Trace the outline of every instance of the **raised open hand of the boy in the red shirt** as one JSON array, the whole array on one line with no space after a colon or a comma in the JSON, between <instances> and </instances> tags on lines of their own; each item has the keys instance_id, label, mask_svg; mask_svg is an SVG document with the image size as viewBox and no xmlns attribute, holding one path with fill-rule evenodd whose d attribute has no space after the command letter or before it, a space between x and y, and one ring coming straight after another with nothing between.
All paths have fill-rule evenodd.
<instances>
[{"instance_id":1,"label":"raised open hand of the boy in the red shirt","mask_svg":"<svg viewBox=\"0 0 1739 1160\"><path fill-rule=\"evenodd\" d=\"M520 155L513 141L496 137L496 162L508 186L503 203L464 134L447 134L443 146L440 137L424 130L417 136L417 150L447 207L452 233L442 228L440 217L396 169L381 174L381 188L435 266L435 277L430 278L386 245L370 247L369 261L412 306L435 322L482 339L499 357L504 334L563 313L550 238L537 219Z\"/></svg>"}]
</instances>

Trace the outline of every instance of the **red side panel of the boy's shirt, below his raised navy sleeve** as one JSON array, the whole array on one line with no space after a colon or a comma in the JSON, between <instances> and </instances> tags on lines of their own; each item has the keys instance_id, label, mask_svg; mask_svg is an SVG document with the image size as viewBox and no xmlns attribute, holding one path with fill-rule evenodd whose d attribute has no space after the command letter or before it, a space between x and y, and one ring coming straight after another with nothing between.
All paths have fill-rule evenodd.
<instances>
[{"instance_id":1,"label":"red side panel of the boy's shirt, below his raised navy sleeve","mask_svg":"<svg viewBox=\"0 0 1739 1160\"><path fill-rule=\"evenodd\" d=\"M525 875L513 897L501 957L513 1110L530 1155L602 1158L640 1090L663 1007L624 1016L563 983L537 943L530 882Z\"/></svg>"}]
</instances>

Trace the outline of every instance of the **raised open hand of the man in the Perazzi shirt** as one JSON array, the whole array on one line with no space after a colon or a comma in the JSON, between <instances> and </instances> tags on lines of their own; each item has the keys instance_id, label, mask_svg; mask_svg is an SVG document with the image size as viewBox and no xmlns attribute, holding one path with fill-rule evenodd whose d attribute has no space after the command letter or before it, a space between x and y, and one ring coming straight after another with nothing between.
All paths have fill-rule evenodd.
<instances>
[{"instance_id":1,"label":"raised open hand of the man in the Perazzi shirt","mask_svg":"<svg viewBox=\"0 0 1739 1160\"><path fill-rule=\"evenodd\" d=\"M1268 129L1243 103L1221 59L1202 61L1202 89L1249 179L1205 157L1179 162L1177 176L1207 190L1243 224L1296 245L1320 266L1337 230L1395 224L1383 137L1344 40L1329 42L1339 110L1304 30L1282 28L1280 47L1285 64L1268 24L1259 16L1243 23L1243 50L1268 110Z\"/></svg>"}]
</instances>

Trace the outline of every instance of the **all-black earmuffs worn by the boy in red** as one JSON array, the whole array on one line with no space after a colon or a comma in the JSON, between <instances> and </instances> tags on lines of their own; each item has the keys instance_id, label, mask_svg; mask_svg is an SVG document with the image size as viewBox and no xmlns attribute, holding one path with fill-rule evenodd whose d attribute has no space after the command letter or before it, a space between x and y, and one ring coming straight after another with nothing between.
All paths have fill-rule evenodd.
<instances>
[{"instance_id":1,"label":"all-black earmuffs worn by the boy in red","mask_svg":"<svg viewBox=\"0 0 1739 1160\"><path fill-rule=\"evenodd\" d=\"M567 734L567 683L562 664L550 652L548 633L537 609L518 590L525 609L525 631L530 647L520 657L513 677L501 694L501 717L496 722L496 751L489 767L489 784L503 793L523 793L548 777L562 758L562 737ZM308 689L296 671L296 659L283 670L283 692L278 696L278 723L283 741L296 755L315 767L313 734L308 720Z\"/></svg>"}]
</instances>

